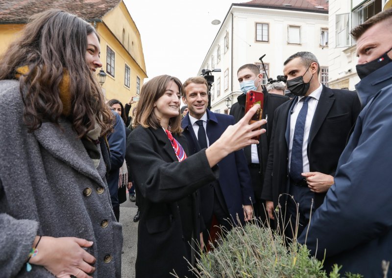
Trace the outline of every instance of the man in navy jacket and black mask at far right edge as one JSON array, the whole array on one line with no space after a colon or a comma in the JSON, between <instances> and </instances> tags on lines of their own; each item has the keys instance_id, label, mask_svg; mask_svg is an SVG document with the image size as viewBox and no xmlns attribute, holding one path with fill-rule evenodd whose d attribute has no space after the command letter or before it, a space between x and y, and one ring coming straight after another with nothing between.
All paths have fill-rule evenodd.
<instances>
[{"instance_id":1,"label":"man in navy jacket and black mask at far right edge","mask_svg":"<svg viewBox=\"0 0 392 278\"><path fill-rule=\"evenodd\" d=\"M326 271L336 263L364 277L392 273L392 9L355 27L355 88L362 111L344 149L322 206L312 216L305 243L324 258ZM316 254L316 250L318 253ZM386 263L388 262L388 263Z\"/></svg>"}]
</instances>

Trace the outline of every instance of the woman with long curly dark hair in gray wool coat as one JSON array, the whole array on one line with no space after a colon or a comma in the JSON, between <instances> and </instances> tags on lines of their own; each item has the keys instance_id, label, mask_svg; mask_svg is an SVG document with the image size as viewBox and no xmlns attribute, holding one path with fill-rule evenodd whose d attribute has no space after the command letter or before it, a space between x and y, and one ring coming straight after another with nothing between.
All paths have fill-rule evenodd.
<instances>
[{"instance_id":1,"label":"woman with long curly dark hair in gray wool coat","mask_svg":"<svg viewBox=\"0 0 392 278\"><path fill-rule=\"evenodd\" d=\"M121 277L101 66L95 29L61 10L33 16L0 59L3 277Z\"/></svg>"}]
</instances>

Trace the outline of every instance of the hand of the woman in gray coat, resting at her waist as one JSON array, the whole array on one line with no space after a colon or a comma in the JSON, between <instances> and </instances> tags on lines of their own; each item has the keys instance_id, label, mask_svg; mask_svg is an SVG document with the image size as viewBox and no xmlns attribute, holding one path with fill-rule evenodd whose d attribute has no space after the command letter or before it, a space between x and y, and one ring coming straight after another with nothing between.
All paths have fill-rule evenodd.
<instances>
[{"instance_id":1,"label":"hand of the woman in gray coat, resting at her waist","mask_svg":"<svg viewBox=\"0 0 392 278\"><path fill-rule=\"evenodd\" d=\"M59 278L71 278L71 275L77 278L90 278L88 274L95 271L91 264L94 264L96 259L83 247L92 245L92 241L82 238L43 236L37 246L38 254L31 257L29 262L44 266Z\"/></svg>"}]
</instances>

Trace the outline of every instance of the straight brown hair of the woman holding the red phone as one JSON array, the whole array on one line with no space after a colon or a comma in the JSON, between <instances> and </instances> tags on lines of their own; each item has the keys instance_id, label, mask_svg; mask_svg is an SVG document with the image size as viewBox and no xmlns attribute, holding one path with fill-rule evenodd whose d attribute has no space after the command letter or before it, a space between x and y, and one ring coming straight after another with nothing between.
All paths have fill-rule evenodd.
<instances>
[{"instance_id":1,"label":"straight brown hair of the woman holding the red phone","mask_svg":"<svg viewBox=\"0 0 392 278\"><path fill-rule=\"evenodd\" d=\"M171 81L177 84L182 95L184 87L182 86L181 81L170 75L156 76L143 85L142 90L140 91L138 107L135 112L134 128L138 125L146 128L152 127L154 129L161 127L160 119L155 116L154 113L154 103L165 93L166 88ZM178 116L172 117L169 120L170 131L178 135L182 132L181 115L179 112L180 110L178 108Z\"/></svg>"}]
</instances>

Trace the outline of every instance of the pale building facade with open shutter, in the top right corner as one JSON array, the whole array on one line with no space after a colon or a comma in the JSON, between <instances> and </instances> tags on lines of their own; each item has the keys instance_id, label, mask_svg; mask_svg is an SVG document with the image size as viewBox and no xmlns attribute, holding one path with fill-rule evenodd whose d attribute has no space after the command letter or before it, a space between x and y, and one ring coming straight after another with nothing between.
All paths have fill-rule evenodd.
<instances>
[{"instance_id":1,"label":"pale building facade with open shutter, in the top right corner","mask_svg":"<svg viewBox=\"0 0 392 278\"><path fill-rule=\"evenodd\" d=\"M329 86L355 90L360 81L355 66L356 42L349 32L373 15L392 6L391 0L330 0L329 1ZM391 26L392 28L392 26Z\"/></svg>"}]
</instances>

